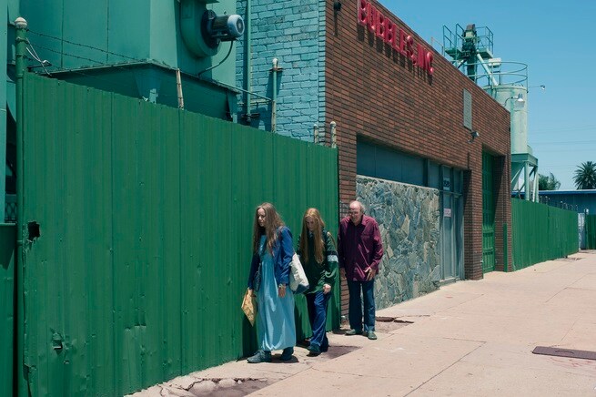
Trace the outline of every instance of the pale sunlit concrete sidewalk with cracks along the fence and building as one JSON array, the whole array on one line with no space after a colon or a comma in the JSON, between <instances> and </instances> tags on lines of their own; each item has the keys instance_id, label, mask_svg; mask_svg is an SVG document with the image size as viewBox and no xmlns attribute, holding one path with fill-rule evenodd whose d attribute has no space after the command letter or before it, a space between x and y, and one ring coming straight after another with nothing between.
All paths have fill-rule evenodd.
<instances>
[{"instance_id":1,"label":"pale sunlit concrete sidewalk with cracks along the fence and building","mask_svg":"<svg viewBox=\"0 0 596 397\"><path fill-rule=\"evenodd\" d=\"M229 362L135 395L596 396L596 361L531 352L596 351L596 251L458 281L377 316L396 320L378 322L378 341L346 328L318 357L298 347L289 363Z\"/></svg>"}]
</instances>

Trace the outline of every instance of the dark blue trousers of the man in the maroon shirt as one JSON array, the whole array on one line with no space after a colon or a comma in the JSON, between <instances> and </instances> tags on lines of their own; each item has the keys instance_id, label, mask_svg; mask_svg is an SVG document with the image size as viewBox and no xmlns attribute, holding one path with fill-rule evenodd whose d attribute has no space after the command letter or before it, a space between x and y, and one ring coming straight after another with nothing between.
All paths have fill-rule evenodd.
<instances>
[{"instance_id":1,"label":"dark blue trousers of the man in the maroon shirt","mask_svg":"<svg viewBox=\"0 0 596 397\"><path fill-rule=\"evenodd\" d=\"M364 331L375 331L375 280L348 280L349 328L362 330L362 300L364 300ZM362 291L362 300L360 299Z\"/></svg>"}]
</instances>

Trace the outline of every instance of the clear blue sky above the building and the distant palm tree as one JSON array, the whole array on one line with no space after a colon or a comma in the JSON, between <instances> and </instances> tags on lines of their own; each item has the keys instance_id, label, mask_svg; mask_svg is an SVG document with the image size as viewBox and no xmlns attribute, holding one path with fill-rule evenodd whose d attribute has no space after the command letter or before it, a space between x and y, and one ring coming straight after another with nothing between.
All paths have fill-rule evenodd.
<instances>
[{"instance_id":1,"label":"clear blue sky above the building and the distant palm tree","mask_svg":"<svg viewBox=\"0 0 596 397\"><path fill-rule=\"evenodd\" d=\"M574 170L596 162L596 2L381 0L414 32L442 44L443 25L488 26L494 56L528 65L528 143L539 173L575 189ZM439 48L439 46L434 46Z\"/></svg>"}]
</instances>

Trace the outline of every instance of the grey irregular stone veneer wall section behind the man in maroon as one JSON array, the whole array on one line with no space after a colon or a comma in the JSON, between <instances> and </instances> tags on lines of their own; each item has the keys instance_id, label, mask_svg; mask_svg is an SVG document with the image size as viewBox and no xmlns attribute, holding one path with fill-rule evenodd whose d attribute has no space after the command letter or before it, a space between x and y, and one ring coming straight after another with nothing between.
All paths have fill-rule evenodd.
<instances>
[{"instance_id":1,"label":"grey irregular stone veneer wall section behind the man in maroon","mask_svg":"<svg viewBox=\"0 0 596 397\"><path fill-rule=\"evenodd\" d=\"M377 309L439 289L439 190L356 178L358 200L377 219L385 253L375 281Z\"/></svg>"}]
</instances>

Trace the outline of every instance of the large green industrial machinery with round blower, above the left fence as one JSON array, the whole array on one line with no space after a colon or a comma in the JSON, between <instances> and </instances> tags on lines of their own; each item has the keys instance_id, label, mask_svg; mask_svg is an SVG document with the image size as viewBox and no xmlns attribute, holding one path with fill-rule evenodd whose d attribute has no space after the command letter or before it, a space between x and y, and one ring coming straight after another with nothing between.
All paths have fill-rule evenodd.
<instances>
[{"instance_id":1,"label":"large green industrial machinery with round blower, above the left fence","mask_svg":"<svg viewBox=\"0 0 596 397\"><path fill-rule=\"evenodd\" d=\"M233 0L32 0L19 11L35 73L237 118L235 40L245 29Z\"/></svg>"}]
</instances>

